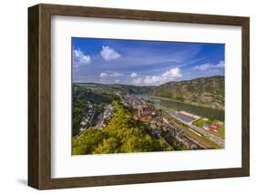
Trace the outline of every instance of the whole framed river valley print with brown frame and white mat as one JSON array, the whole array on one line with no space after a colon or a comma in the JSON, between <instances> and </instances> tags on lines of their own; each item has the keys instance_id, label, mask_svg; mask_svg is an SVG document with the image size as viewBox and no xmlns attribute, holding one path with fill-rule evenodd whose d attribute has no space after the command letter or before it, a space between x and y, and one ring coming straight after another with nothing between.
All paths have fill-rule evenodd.
<instances>
[{"instance_id":1,"label":"whole framed river valley print with brown frame and white mat","mask_svg":"<svg viewBox=\"0 0 256 194\"><path fill-rule=\"evenodd\" d=\"M28 9L28 185L250 174L250 22L70 5Z\"/></svg>"}]
</instances>

